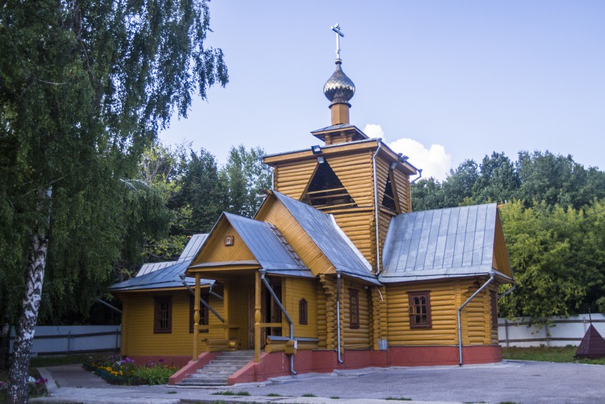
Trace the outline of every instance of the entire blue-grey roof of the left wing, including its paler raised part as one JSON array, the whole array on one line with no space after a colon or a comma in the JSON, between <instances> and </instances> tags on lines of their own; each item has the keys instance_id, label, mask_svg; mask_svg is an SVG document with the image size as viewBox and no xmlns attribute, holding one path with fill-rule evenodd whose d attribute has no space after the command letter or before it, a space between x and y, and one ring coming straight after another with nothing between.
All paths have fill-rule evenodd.
<instances>
[{"instance_id":1,"label":"entire blue-grey roof of the left wing, including its paler raised part","mask_svg":"<svg viewBox=\"0 0 605 404\"><path fill-rule=\"evenodd\" d=\"M194 259L208 234L194 234L187 242L183 252L177 261L153 262L144 264L132 279L118 282L109 287L109 291L133 291L144 289L182 288L181 274L184 274L187 266ZM185 278L186 284L195 285L195 278ZM212 284L214 281L201 279L202 284Z\"/></svg>"}]
</instances>

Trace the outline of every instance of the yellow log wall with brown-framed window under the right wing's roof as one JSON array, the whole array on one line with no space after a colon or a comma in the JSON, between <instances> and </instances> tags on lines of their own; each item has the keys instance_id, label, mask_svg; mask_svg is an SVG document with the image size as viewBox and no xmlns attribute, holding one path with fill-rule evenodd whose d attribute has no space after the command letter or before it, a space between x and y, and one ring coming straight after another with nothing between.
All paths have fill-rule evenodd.
<instances>
[{"instance_id":1,"label":"yellow log wall with brown-framed window under the right wing's roof","mask_svg":"<svg viewBox=\"0 0 605 404\"><path fill-rule=\"evenodd\" d=\"M483 284L485 279L480 281ZM386 286L387 336L389 346L456 345L456 311L480 286L474 279L434 281ZM410 328L408 293L430 291L431 328ZM461 312L464 345L494 342L491 328L490 292L486 288Z\"/></svg>"}]
</instances>

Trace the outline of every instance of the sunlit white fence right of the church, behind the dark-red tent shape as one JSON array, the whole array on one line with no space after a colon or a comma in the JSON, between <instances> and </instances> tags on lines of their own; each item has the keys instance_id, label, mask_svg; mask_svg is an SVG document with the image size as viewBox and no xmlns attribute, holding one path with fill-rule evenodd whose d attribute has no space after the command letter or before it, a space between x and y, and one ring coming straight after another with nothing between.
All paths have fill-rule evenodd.
<instances>
[{"instance_id":1,"label":"sunlit white fence right of the church, behind the dark-red tent shape","mask_svg":"<svg viewBox=\"0 0 605 404\"><path fill-rule=\"evenodd\" d=\"M591 314L592 325L605 337L605 316ZM578 346L590 325L589 315L574 317L553 317L547 326L530 326L529 318L507 320L498 318L498 339L500 345L509 347L527 346Z\"/></svg>"}]
</instances>

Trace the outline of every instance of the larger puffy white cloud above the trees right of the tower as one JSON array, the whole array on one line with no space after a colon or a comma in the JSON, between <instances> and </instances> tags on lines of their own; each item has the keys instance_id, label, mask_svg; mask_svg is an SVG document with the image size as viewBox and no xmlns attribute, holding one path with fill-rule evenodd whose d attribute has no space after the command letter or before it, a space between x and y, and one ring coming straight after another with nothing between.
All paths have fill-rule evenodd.
<instances>
[{"instance_id":1,"label":"larger puffy white cloud above the trees right of the tower","mask_svg":"<svg viewBox=\"0 0 605 404\"><path fill-rule=\"evenodd\" d=\"M414 139L402 138L389 143L395 152L409 156L409 162L414 167L422 169L422 177L435 177L436 180L446 179L452 165L452 156L442 145L431 145L428 149Z\"/></svg>"}]
</instances>

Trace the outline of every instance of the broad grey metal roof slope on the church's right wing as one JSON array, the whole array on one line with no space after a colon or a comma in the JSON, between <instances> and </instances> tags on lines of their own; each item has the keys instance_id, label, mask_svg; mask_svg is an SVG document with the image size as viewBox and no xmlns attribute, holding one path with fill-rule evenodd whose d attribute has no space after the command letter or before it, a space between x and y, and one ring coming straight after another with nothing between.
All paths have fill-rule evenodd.
<instances>
[{"instance_id":1,"label":"broad grey metal roof slope on the church's right wing","mask_svg":"<svg viewBox=\"0 0 605 404\"><path fill-rule=\"evenodd\" d=\"M496 204L481 204L398 214L391 219L386 234L380 281L475 276L494 271L496 209Z\"/></svg>"}]
</instances>

